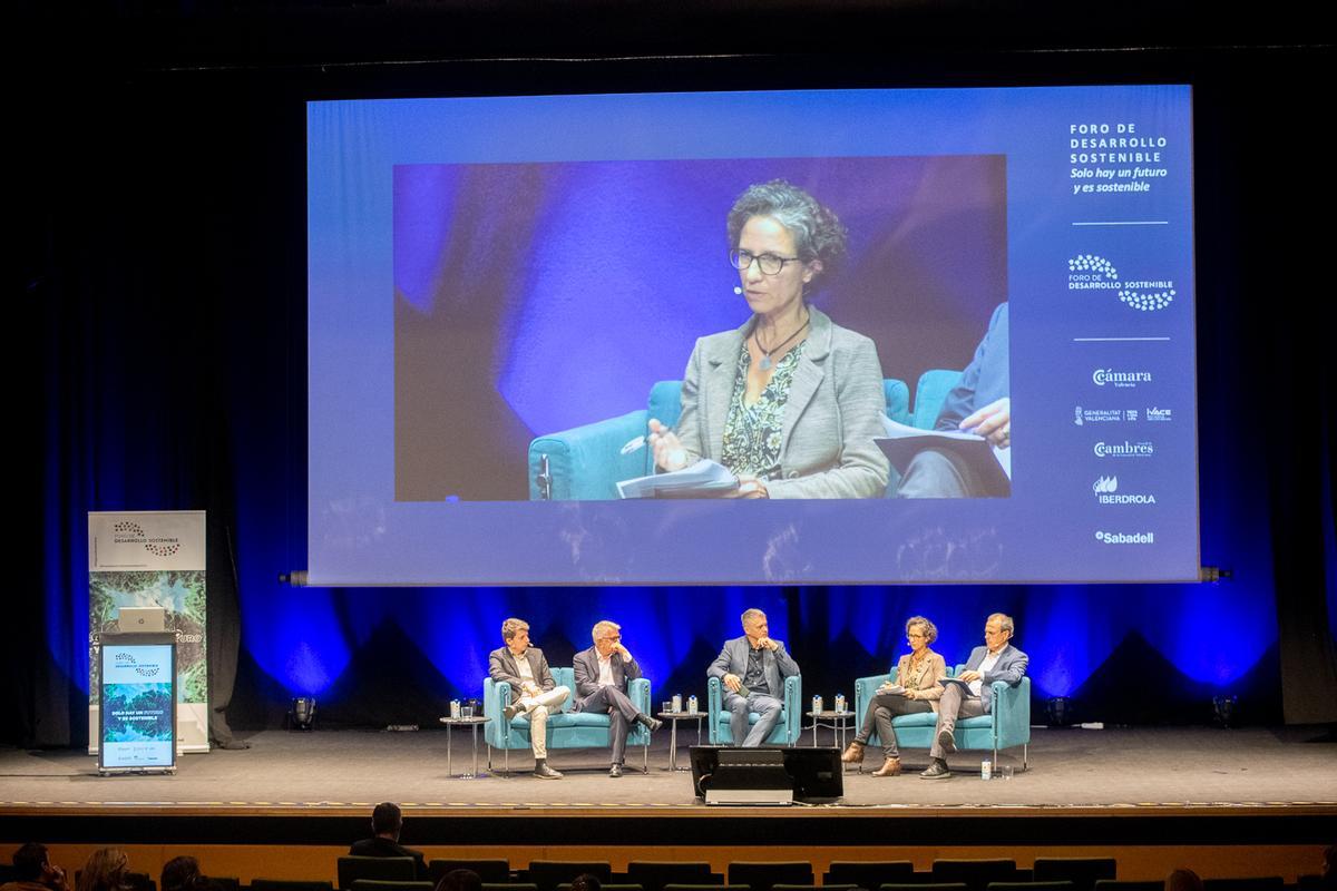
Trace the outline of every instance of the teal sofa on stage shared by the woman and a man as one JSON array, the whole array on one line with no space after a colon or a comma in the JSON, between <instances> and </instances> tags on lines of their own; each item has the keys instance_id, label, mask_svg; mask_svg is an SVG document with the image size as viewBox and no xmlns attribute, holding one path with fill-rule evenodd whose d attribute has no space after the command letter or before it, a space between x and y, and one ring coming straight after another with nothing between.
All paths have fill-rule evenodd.
<instances>
[{"instance_id":1,"label":"teal sofa on stage shared by the woman and a man","mask_svg":"<svg viewBox=\"0 0 1337 891\"><path fill-rule=\"evenodd\" d=\"M965 671L965 665L948 668L948 677L956 677ZM860 677L854 681L854 725L861 727L869 703L877 693L877 688L886 681L896 681L896 669L888 675L873 675ZM995 681L993 707L988 715L979 717L963 717L956 721L956 748L972 751L992 751L993 761L997 763L999 749L1021 747L1021 769L1027 769L1031 744L1031 679L1023 677L1016 687L1009 687L1003 681ZM917 715L897 715L892 719L896 728L896 741L910 748L931 748L933 745L933 728L937 725L936 712L920 712ZM877 731L868 740L869 745L881 745Z\"/></svg>"}]
</instances>

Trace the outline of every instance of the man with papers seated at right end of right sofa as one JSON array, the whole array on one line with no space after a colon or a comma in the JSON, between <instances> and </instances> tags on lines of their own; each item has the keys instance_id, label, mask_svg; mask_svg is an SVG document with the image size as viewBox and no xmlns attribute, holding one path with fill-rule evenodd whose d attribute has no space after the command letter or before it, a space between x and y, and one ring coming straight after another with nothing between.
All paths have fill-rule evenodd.
<instances>
[{"instance_id":1,"label":"man with papers seated at right end of right sofa","mask_svg":"<svg viewBox=\"0 0 1337 891\"><path fill-rule=\"evenodd\" d=\"M984 645L971 651L965 669L957 675L967 685L943 683L943 697L937 700L937 727L933 747L928 753L933 763L920 773L927 780L940 780L952 776L947 768L947 756L956 751L956 719L988 715L993 707L995 681L1007 681L1016 687L1025 677L1025 667L1031 657L1009 644L1016 625L1011 616L993 613L984 622ZM951 679L948 679L951 680Z\"/></svg>"}]
</instances>

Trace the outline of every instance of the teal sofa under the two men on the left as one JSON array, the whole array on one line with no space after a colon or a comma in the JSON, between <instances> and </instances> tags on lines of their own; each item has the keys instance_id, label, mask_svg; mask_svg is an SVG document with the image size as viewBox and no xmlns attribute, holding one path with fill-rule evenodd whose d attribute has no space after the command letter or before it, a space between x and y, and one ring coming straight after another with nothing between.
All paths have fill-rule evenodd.
<instances>
[{"instance_id":1,"label":"teal sofa under the two men on the left","mask_svg":"<svg viewBox=\"0 0 1337 891\"><path fill-rule=\"evenodd\" d=\"M562 704L562 712L548 716L548 749L558 748L611 748L611 721L599 712L574 712L576 679L572 668L554 668L552 680L558 687L566 687L571 696ZM638 677L627 685L627 695L642 715L651 715L650 680ZM511 751L529 748L529 719L516 715L509 721L501 709L511 703L511 684L483 680L483 715L491 719L483 725L483 739L488 745L488 769L492 769L492 749L501 749L504 772L511 772ZM643 749L643 771L650 772L650 731L640 724L632 725L627 733L627 745L640 745Z\"/></svg>"}]
</instances>

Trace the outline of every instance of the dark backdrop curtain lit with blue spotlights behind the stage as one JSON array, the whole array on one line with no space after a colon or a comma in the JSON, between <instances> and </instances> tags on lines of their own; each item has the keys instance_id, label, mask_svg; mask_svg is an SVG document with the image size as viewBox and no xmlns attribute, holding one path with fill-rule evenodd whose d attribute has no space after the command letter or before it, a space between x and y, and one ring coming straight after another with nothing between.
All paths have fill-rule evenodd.
<instances>
[{"instance_id":1,"label":"dark backdrop curtain lit with blue spotlights behind the stage","mask_svg":"<svg viewBox=\"0 0 1337 891\"><path fill-rule=\"evenodd\" d=\"M1110 721L1333 721L1334 187L1325 32L1285 7L1115 20L1032 4L36 4L12 13L19 274L0 741L82 744L86 512L210 513L211 635L234 723L321 697L332 723L431 720L477 691L505 614L554 663L603 613L659 691L759 602L810 692L850 693L931 614L963 659L1013 612L1038 696ZM1330 35L1328 35L1330 36ZM393 64L392 64L393 63ZM291 589L305 550L306 99L560 91L1191 83L1201 586ZM683 605L711 604L683 624ZM650 629L655 631L651 632ZM673 645L651 639L673 632ZM217 633L215 633L217 632ZM1144 691L1154 689L1155 696Z\"/></svg>"}]
</instances>

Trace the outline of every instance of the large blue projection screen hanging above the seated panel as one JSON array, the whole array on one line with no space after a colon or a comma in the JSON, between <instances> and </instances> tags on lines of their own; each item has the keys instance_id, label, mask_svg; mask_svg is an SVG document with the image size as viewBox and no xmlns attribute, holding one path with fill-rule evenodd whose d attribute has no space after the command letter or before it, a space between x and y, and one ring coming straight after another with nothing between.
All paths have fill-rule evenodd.
<instances>
[{"instance_id":1,"label":"large blue projection screen hanging above the seated panel","mask_svg":"<svg viewBox=\"0 0 1337 891\"><path fill-rule=\"evenodd\" d=\"M1190 111L310 103L310 581L1195 578Z\"/></svg>"}]
</instances>

